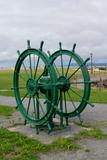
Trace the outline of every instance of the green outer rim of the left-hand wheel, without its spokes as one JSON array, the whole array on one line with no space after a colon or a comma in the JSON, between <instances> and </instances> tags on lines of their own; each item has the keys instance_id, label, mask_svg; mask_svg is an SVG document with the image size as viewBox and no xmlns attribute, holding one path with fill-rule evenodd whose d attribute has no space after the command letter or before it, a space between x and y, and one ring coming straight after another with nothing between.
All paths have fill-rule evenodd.
<instances>
[{"instance_id":1,"label":"green outer rim of the left-hand wheel, without its spokes","mask_svg":"<svg viewBox=\"0 0 107 160\"><path fill-rule=\"evenodd\" d=\"M50 89L52 91L51 92L51 99L48 99L48 98L46 99L47 100L46 103L48 105L48 110L47 110L47 113L41 119L39 119L39 115L36 119L33 119L32 117L29 116L29 114L27 113L27 111L25 109L25 106L23 106L23 104L22 104L22 101L25 98L29 98L30 96L29 96L29 93L26 93L24 97L20 96L19 77L20 77L20 68L21 68L21 65L23 64L23 60L31 54L37 55L39 58L41 58L44 61L46 68L48 68L48 74L50 74L50 78L51 78L50 81L52 84L56 83L56 76L55 76L56 73L55 73L53 66L50 65L47 55L45 53L41 52L40 50L36 50L33 48L25 50L19 56L17 63L16 63L16 66L15 66L13 85L14 85L14 93L15 93L18 108L26 120L34 123L36 126L38 126L38 125L40 126L40 125L43 125L44 123L47 123L48 120L50 119L50 117L52 116L53 110L54 110L54 104L55 104L56 98L57 98L57 94L56 94L57 92L56 92L56 86L51 85L51 89ZM32 70L31 67L30 67L30 70ZM32 73L29 78L33 79ZM27 83L27 80L26 80L26 83ZM36 94L36 96L37 96L37 94ZM31 95L30 99L32 97L33 96ZM29 99L29 103L30 103L30 99ZM50 104L52 104L52 105L50 105Z\"/></svg>"}]
</instances>

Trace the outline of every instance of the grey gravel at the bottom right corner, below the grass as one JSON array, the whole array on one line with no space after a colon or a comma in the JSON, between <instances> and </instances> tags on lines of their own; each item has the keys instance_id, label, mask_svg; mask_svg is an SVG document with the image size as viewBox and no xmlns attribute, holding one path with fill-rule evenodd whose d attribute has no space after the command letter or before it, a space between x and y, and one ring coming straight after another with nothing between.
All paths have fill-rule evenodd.
<instances>
[{"instance_id":1,"label":"grey gravel at the bottom right corner, below the grass","mask_svg":"<svg viewBox=\"0 0 107 160\"><path fill-rule=\"evenodd\" d=\"M41 160L107 160L107 141L84 140L76 152L41 154Z\"/></svg>"}]
</instances>

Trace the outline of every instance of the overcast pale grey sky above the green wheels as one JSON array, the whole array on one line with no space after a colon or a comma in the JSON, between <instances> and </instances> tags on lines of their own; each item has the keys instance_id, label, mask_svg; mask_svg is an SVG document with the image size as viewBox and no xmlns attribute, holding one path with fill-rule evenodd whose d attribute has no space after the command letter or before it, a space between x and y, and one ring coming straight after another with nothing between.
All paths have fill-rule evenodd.
<instances>
[{"instance_id":1,"label":"overcast pale grey sky above the green wheels","mask_svg":"<svg viewBox=\"0 0 107 160\"><path fill-rule=\"evenodd\" d=\"M16 60L31 46L54 52L58 43L86 58L107 63L107 0L1 0L0 61Z\"/></svg>"}]
</instances>

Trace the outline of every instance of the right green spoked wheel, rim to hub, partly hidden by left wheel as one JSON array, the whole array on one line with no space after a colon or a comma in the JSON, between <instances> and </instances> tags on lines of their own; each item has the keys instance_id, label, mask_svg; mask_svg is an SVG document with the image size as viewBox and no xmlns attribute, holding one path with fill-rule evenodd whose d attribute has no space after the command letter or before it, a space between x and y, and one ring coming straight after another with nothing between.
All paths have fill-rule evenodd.
<instances>
[{"instance_id":1,"label":"right green spoked wheel, rim to hub, partly hidden by left wheel","mask_svg":"<svg viewBox=\"0 0 107 160\"><path fill-rule=\"evenodd\" d=\"M67 58L69 60L67 60ZM88 69L85 65L86 62L76 54L74 51L60 49L50 56L51 63L55 67L57 73L57 84L58 86L58 101L57 101L57 113L64 117L75 117L79 116L80 113L85 109L89 97L90 97L90 77ZM89 59L88 59L89 60ZM68 63L66 63L68 61ZM71 63L76 63L77 68L70 73ZM66 68L64 66L66 64ZM60 69L59 69L60 68ZM66 70L66 72L65 72ZM75 75L81 72L82 80L74 80ZM72 80L73 78L73 80ZM62 84L62 85L61 85ZM74 85L80 85L75 90ZM82 94L81 92L82 85ZM79 102L75 102L75 96L79 99ZM74 97L74 100L73 100ZM69 102L70 101L70 102ZM72 106L72 109L70 107Z\"/></svg>"}]
</instances>

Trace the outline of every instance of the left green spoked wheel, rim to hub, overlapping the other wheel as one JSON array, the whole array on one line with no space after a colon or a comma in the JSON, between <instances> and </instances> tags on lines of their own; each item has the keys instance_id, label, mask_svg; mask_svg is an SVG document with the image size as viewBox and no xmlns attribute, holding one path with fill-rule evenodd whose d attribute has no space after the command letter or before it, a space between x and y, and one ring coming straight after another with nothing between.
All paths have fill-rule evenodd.
<instances>
[{"instance_id":1,"label":"left green spoked wheel, rim to hub, overlapping the other wheel","mask_svg":"<svg viewBox=\"0 0 107 160\"><path fill-rule=\"evenodd\" d=\"M44 75L45 68L48 70L50 84L55 84L54 67L50 65L48 56L40 50L25 50L15 65L13 85L16 102L25 120L35 125L42 125L49 120L57 99L55 85L50 86L50 98L40 92L39 80Z\"/></svg>"}]
</instances>

